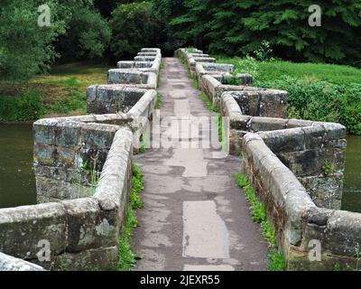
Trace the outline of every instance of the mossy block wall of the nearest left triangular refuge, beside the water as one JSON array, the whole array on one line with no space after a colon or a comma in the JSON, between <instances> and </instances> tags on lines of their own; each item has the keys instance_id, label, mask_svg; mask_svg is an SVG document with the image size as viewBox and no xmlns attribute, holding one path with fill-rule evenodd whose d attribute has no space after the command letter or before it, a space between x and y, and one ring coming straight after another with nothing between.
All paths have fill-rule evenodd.
<instances>
[{"instance_id":1,"label":"mossy block wall of the nearest left triangular refuge, beside the water","mask_svg":"<svg viewBox=\"0 0 361 289\"><path fill-rule=\"evenodd\" d=\"M91 196L91 173L101 172L119 128L66 118L35 122L34 170L38 202ZM91 172L93 167L95 172Z\"/></svg>"}]
</instances>

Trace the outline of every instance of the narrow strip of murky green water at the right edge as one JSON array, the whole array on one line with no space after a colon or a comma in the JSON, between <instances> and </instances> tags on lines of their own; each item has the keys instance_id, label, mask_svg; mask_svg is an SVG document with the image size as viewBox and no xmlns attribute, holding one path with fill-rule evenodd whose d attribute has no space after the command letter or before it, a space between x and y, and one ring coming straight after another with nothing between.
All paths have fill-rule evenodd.
<instances>
[{"instance_id":1,"label":"narrow strip of murky green water at the right edge","mask_svg":"<svg viewBox=\"0 0 361 289\"><path fill-rule=\"evenodd\" d=\"M361 136L347 137L342 210L361 212Z\"/></svg>"}]
</instances>

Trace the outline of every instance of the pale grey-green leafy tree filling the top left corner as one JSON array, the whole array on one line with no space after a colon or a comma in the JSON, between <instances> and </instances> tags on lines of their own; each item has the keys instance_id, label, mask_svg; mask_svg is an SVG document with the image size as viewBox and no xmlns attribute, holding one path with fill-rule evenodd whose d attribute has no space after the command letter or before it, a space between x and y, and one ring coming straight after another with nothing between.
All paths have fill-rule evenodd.
<instances>
[{"instance_id":1,"label":"pale grey-green leafy tree filling the top left corner","mask_svg":"<svg viewBox=\"0 0 361 289\"><path fill-rule=\"evenodd\" d=\"M41 1L3 0L0 6L0 78L30 79L48 70L58 56L53 42L65 32L65 23L58 18L58 6L51 7L51 26L39 27L37 12Z\"/></svg>"}]
</instances>

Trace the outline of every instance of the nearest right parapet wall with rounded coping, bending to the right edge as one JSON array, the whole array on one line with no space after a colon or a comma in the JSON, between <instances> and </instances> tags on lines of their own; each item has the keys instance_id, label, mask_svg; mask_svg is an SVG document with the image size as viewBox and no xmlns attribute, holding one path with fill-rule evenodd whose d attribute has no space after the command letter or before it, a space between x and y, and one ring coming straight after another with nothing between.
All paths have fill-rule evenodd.
<instances>
[{"instance_id":1,"label":"nearest right parapet wall with rounded coping, bending to the right edge","mask_svg":"<svg viewBox=\"0 0 361 289\"><path fill-rule=\"evenodd\" d=\"M329 136L336 141L339 134L346 132L338 124L323 126L329 126ZM282 133L292 135L292 130ZM289 265L295 262L310 269L329 270L336 263L344 267L346 263L353 265L355 247L361 242L361 214L318 208L301 182L266 144L272 134L248 133L244 136L242 170L266 205L267 215L273 222ZM308 259L311 240L320 242L321 262Z\"/></svg>"}]
</instances>

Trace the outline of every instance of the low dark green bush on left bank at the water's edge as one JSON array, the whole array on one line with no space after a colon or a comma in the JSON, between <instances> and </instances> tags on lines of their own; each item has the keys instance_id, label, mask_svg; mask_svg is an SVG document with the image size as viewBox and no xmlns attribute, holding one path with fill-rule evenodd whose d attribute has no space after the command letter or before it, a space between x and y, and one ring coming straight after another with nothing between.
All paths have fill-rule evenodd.
<instances>
[{"instance_id":1,"label":"low dark green bush on left bank at the water's edge","mask_svg":"<svg viewBox=\"0 0 361 289\"><path fill-rule=\"evenodd\" d=\"M43 114L42 96L38 90L25 91L18 97L0 98L1 121L35 120Z\"/></svg>"}]
</instances>

